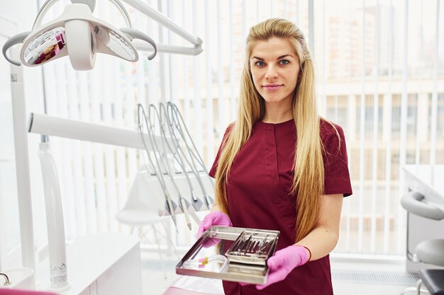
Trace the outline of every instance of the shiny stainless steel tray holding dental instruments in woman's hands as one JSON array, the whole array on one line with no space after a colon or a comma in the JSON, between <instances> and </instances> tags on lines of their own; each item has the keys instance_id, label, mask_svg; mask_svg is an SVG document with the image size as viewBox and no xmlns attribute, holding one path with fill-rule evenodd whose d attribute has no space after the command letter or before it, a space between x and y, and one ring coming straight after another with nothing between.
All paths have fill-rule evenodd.
<instances>
[{"instance_id":1,"label":"shiny stainless steel tray holding dental instruments in woman's hands","mask_svg":"<svg viewBox=\"0 0 444 295\"><path fill-rule=\"evenodd\" d=\"M245 236L265 239L267 250L260 251L260 255L236 255L233 245L237 247L235 241ZM176 273L232 282L265 284L268 272L266 262L274 254L278 238L279 231L212 226L179 261ZM259 249L257 247L257 250Z\"/></svg>"}]
</instances>

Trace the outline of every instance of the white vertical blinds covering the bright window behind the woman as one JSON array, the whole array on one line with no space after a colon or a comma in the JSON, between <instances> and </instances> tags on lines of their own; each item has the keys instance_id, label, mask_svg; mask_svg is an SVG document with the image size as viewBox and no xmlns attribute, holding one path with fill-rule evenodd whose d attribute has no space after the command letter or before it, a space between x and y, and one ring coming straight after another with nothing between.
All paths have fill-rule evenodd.
<instances>
[{"instance_id":1,"label":"white vertical blinds covering the bright window behind the woman","mask_svg":"<svg viewBox=\"0 0 444 295\"><path fill-rule=\"evenodd\" d=\"M319 112L345 130L354 194L344 200L335 251L404 253L401 167L444 164L440 0L145 2L201 37L204 52L196 57L158 54L152 61L143 53L133 64L101 55L87 72L74 71L66 58L46 64L49 115L135 130L137 103L172 101L211 166L223 132L236 117L248 28L270 17L287 18L310 36ZM56 5L52 15L62 8ZM189 45L126 8L133 27L157 42ZM108 1L97 1L95 14L116 27L125 25ZM140 151L71 139L50 141L67 237L129 231L114 216L126 202L141 164Z\"/></svg>"}]
</instances>

